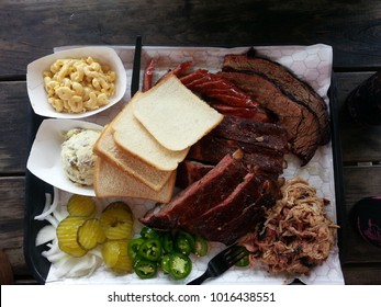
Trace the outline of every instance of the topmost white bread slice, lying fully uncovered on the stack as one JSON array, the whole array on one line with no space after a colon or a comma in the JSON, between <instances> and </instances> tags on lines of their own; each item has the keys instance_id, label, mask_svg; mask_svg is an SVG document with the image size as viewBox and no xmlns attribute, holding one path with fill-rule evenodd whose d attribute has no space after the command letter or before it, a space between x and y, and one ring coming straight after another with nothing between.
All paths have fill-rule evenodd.
<instances>
[{"instance_id":1,"label":"topmost white bread slice, lying fully uncovered on the stack","mask_svg":"<svg viewBox=\"0 0 381 307\"><path fill-rule=\"evenodd\" d=\"M170 150L184 150L210 133L223 115L175 76L160 80L133 105L135 117Z\"/></svg>"}]
</instances>

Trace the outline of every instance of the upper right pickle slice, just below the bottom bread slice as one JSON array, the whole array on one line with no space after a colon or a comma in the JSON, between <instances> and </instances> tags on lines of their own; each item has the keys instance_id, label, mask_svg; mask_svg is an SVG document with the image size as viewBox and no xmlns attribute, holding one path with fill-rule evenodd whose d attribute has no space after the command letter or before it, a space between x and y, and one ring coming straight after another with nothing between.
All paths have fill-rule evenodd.
<instances>
[{"instance_id":1,"label":"upper right pickle slice, just below the bottom bread slice","mask_svg":"<svg viewBox=\"0 0 381 307\"><path fill-rule=\"evenodd\" d=\"M111 203L101 213L100 220L109 240L122 240L132 236L133 215L130 206L123 202Z\"/></svg>"}]
</instances>

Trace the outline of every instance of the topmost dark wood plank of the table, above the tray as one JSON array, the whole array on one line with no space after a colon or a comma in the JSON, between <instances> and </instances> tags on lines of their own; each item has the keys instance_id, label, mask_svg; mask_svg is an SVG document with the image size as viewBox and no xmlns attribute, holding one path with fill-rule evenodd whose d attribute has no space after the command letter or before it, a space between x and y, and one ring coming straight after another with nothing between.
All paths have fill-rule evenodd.
<instances>
[{"instance_id":1,"label":"topmost dark wood plank of the table, above the tray","mask_svg":"<svg viewBox=\"0 0 381 307\"><path fill-rule=\"evenodd\" d=\"M61 45L250 46L324 43L337 68L380 67L381 2L1 1L2 78Z\"/></svg>"}]
</instances>

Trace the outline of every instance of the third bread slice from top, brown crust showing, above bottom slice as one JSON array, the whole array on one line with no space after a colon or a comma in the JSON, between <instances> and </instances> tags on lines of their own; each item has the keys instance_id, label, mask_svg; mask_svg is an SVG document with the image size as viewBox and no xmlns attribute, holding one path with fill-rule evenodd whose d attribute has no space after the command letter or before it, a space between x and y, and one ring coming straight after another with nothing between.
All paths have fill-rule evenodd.
<instances>
[{"instance_id":1,"label":"third bread slice from top, brown crust showing, above bottom slice","mask_svg":"<svg viewBox=\"0 0 381 307\"><path fill-rule=\"evenodd\" d=\"M97 156L113 163L121 171L135 177L155 191L160 191L173 172L160 171L131 155L128 151L122 150L114 141L113 130L110 125L103 128L94 144L93 151Z\"/></svg>"}]
</instances>

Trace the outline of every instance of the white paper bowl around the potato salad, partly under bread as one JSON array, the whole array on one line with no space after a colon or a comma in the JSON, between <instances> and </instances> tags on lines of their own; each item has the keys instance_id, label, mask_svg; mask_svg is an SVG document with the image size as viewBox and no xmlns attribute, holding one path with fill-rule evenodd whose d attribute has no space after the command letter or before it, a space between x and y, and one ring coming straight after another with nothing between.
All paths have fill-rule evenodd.
<instances>
[{"instance_id":1,"label":"white paper bowl around the potato salad, partly under bread","mask_svg":"<svg viewBox=\"0 0 381 307\"><path fill-rule=\"evenodd\" d=\"M78 120L44 120L40 125L27 159L26 168L41 180L60 190L96 196L93 186L78 185L70 181L60 160L63 132L72 128L102 130L102 126Z\"/></svg>"}]
</instances>

